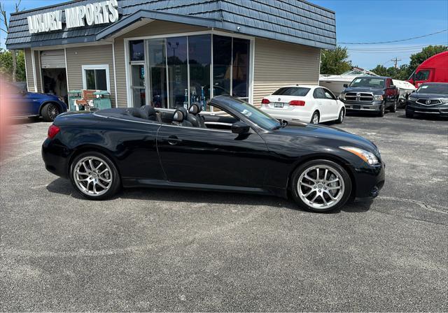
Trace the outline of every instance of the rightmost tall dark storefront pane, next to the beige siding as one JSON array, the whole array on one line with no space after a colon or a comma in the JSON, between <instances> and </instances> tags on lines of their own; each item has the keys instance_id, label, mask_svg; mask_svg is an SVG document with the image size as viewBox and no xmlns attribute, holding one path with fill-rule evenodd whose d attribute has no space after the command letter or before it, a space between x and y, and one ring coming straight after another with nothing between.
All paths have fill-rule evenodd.
<instances>
[{"instance_id":1,"label":"rightmost tall dark storefront pane, next to the beige siding","mask_svg":"<svg viewBox=\"0 0 448 313\"><path fill-rule=\"evenodd\" d=\"M233 38L232 96L248 101L249 41Z\"/></svg>"}]
</instances>

